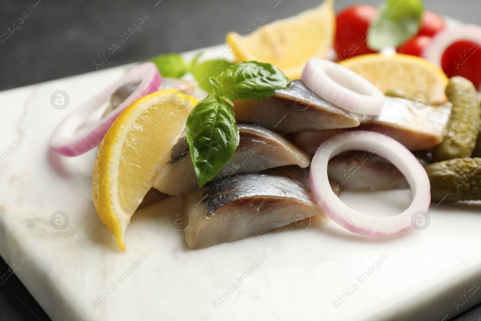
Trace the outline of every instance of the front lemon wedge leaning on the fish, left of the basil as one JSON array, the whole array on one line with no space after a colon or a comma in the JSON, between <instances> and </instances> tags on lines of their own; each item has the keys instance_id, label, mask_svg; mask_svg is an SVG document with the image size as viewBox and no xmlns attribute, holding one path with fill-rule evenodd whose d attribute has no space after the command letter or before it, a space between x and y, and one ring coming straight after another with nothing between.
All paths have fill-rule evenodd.
<instances>
[{"instance_id":1,"label":"front lemon wedge leaning on the fish, left of the basil","mask_svg":"<svg viewBox=\"0 0 481 321\"><path fill-rule=\"evenodd\" d=\"M166 163L183 135L196 103L175 89L153 92L128 106L100 144L92 178L93 202L124 251L130 218L152 187L157 167Z\"/></svg>"}]
</instances>

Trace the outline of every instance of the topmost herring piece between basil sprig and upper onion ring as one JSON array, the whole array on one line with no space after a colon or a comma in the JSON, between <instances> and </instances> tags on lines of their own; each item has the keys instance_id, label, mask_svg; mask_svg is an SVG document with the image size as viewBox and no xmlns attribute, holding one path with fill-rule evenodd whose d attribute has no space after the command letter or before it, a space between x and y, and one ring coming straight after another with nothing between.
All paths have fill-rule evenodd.
<instances>
[{"instance_id":1,"label":"topmost herring piece between basil sprig and upper onion ring","mask_svg":"<svg viewBox=\"0 0 481 321\"><path fill-rule=\"evenodd\" d=\"M329 103L308 90L300 80L263 100L235 100L236 120L281 132L351 128L359 126L359 116Z\"/></svg>"}]
</instances>

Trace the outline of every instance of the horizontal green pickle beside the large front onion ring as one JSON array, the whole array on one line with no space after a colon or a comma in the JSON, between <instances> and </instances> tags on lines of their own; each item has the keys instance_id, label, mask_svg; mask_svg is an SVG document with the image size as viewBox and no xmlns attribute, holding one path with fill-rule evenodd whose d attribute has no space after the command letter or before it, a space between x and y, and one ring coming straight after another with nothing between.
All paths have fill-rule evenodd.
<instances>
[{"instance_id":1,"label":"horizontal green pickle beside the large front onion ring","mask_svg":"<svg viewBox=\"0 0 481 321\"><path fill-rule=\"evenodd\" d=\"M481 158L456 158L426 167L431 201L481 200Z\"/></svg>"}]
</instances>

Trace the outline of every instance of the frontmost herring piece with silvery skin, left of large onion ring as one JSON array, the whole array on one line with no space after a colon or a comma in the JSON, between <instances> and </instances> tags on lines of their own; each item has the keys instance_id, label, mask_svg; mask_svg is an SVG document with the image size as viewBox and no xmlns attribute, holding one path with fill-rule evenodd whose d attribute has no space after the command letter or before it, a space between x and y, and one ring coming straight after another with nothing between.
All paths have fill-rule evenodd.
<instances>
[{"instance_id":1,"label":"frontmost herring piece with silvery skin, left of large onion ring","mask_svg":"<svg viewBox=\"0 0 481 321\"><path fill-rule=\"evenodd\" d=\"M184 233L191 249L242 240L324 215L311 196L308 170L295 166L209 182L183 194L182 200L184 221L190 222Z\"/></svg>"}]
</instances>

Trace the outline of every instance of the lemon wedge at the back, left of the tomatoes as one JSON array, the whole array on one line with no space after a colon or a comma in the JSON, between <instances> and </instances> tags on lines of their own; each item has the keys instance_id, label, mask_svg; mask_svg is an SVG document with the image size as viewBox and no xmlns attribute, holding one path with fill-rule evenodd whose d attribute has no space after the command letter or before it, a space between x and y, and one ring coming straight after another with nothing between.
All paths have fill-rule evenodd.
<instances>
[{"instance_id":1,"label":"lemon wedge at the back, left of the tomatoes","mask_svg":"<svg viewBox=\"0 0 481 321\"><path fill-rule=\"evenodd\" d=\"M262 26L252 35L230 32L227 43L237 62L257 60L281 69L287 77L301 77L309 58L325 59L335 33L334 0L287 19Z\"/></svg>"}]
</instances>

